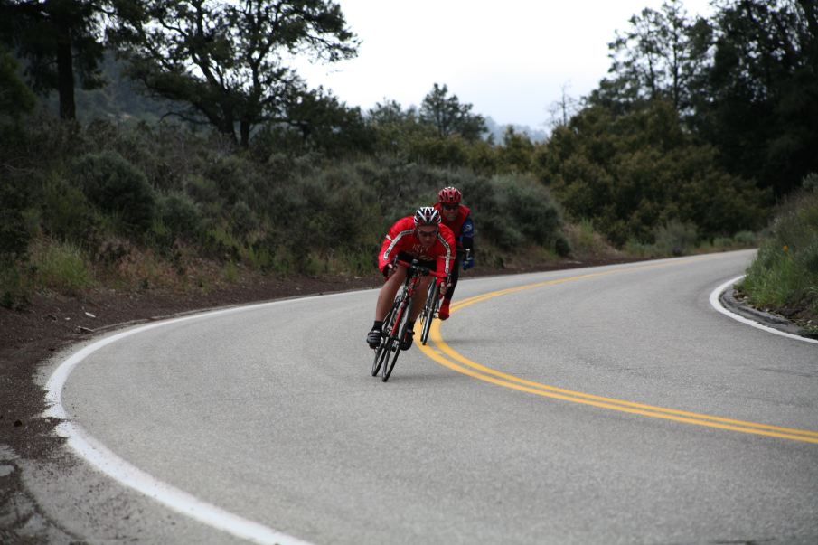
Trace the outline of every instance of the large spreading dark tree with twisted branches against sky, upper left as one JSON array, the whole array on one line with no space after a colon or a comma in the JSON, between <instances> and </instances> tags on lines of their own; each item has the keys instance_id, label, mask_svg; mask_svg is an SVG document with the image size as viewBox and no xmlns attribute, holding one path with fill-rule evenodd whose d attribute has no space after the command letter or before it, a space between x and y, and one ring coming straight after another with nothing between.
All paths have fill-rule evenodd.
<instances>
[{"instance_id":1,"label":"large spreading dark tree with twisted branches against sky, upper left","mask_svg":"<svg viewBox=\"0 0 818 545\"><path fill-rule=\"evenodd\" d=\"M303 87L287 57L334 62L357 48L328 0L125 0L119 14L110 35L131 77L189 105L174 114L203 117L242 146L253 127L287 121L287 98Z\"/></svg>"}]
</instances>

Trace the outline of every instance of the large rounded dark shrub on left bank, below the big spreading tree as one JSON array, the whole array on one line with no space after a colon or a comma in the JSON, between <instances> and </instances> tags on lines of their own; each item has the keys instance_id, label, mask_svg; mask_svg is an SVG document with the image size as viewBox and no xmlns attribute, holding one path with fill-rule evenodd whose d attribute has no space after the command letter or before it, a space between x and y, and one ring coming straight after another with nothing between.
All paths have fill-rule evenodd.
<instances>
[{"instance_id":1,"label":"large rounded dark shrub on left bank, below the big spreading tree","mask_svg":"<svg viewBox=\"0 0 818 545\"><path fill-rule=\"evenodd\" d=\"M90 202L121 222L125 230L148 230L156 198L145 174L116 152L83 155L71 168L71 179Z\"/></svg>"}]
</instances>

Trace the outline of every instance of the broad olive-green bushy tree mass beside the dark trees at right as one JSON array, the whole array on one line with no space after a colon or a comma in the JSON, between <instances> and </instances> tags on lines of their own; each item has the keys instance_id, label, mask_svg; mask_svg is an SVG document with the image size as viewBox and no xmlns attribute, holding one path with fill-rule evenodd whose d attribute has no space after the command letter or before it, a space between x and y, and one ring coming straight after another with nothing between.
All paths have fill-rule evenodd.
<instances>
[{"instance_id":1,"label":"broad olive-green bushy tree mass beside the dark trees at right","mask_svg":"<svg viewBox=\"0 0 818 545\"><path fill-rule=\"evenodd\" d=\"M766 193L720 168L717 155L669 101L652 100L626 114L584 108L554 130L536 164L569 216L621 246L653 242L671 221L708 238L761 227Z\"/></svg>"}]
</instances>

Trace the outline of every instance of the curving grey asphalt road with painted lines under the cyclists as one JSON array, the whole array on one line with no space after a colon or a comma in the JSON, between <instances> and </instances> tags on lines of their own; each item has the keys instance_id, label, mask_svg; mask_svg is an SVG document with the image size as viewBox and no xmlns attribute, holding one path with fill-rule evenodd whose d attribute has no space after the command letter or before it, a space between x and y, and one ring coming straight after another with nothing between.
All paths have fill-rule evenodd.
<instances>
[{"instance_id":1,"label":"curving grey asphalt road with painted lines under the cyclists","mask_svg":"<svg viewBox=\"0 0 818 545\"><path fill-rule=\"evenodd\" d=\"M709 302L752 255L463 281L388 383L374 291L126 332L61 391L118 481L29 484L91 541L813 544L818 345Z\"/></svg>"}]
</instances>

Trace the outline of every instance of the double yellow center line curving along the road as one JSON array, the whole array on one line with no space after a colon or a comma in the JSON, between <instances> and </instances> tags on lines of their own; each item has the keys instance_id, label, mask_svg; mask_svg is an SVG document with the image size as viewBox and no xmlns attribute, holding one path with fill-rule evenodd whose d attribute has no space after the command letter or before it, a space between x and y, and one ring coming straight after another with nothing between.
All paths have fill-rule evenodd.
<instances>
[{"instance_id":1,"label":"double yellow center line curving along the road","mask_svg":"<svg viewBox=\"0 0 818 545\"><path fill-rule=\"evenodd\" d=\"M584 275L577 275L574 277L564 277L544 282L537 282L525 286L511 287L508 289L501 289L498 291L486 293L480 296L469 297L452 306L452 314L456 311L465 308L475 303L481 303L494 297L505 296L512 293L517 293L527 289L537 287L554 286L566 282L572 282L585 278L601 277L620 272L633 271L637 269L663 267L666 264L648 265L643 267L625 268L606 270L597 273L590 273ZM584 405L591 405L600 409L618 410L644 417L663 418L665 420L674 420L685 424L694 424L696 426L706 426L708 428L729 429L732 431L739 431L742 433L755 434L768 437L780 437L783 439L791 439L794 441L803 441L805 443L818 444L818 431L811 431L798 428L784 428L781 426L771 426L768 424L759 424L757 422L748 422L746 420L737 420L733 418L722 418L690 412L686 410L665 409L663 407L656 407L653 405L645 405L644 403L636 403L634 401L627 401L625 399L613 399L597 396L593 394L584 393L575 390L566 390L556 386L549 386L541 382L528 381L512 374L497 371L480 363L473 362L466 358L463 354L456 352L449 346L440 335L440 321L436 320L432 323L429 330L429 340L434 344L434 347L429 345L420 346L420 350L424 352L429 358L441 365L480 381L491 382L498 386L511 388L513 390L520 390L546 398L562 399L573 403L582 403Z\"/></svg>"}]
</instances>

